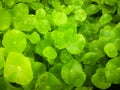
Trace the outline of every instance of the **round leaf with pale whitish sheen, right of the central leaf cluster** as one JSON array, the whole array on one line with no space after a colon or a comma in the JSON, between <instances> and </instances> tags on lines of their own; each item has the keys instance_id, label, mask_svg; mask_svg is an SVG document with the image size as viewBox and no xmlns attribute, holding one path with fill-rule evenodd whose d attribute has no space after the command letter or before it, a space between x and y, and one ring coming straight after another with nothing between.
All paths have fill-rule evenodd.
<instances>
[{"instance_id":1,"label":"round leaf with pale whitish sheen, right of the central leaf cluster","mask_svg":"<svg viewBox=\"0 0 120 90\"><path fill-rule=\"evenodd\" d=\"M86 40L82 34L75 34L69 41L66 49L71 54L80 54L86 44Z\"/></svg>"}]
</instances>

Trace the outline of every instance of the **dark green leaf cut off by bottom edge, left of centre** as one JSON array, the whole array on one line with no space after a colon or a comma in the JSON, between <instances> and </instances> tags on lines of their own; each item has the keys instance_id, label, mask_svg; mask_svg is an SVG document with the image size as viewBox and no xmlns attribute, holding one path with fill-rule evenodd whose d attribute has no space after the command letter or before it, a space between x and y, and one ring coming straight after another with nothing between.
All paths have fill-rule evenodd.
<instances>
[{"instance_id":1,"label":"dark green leaf cut off by bottom edge, left of centre","mask_svg":"<svg viewBox=\"0 0 120 90\"><path fill-rule=\"evenodd\" d=\"M36 90L61 90L61 82L50 72L45 72L39 76L36 84Z\"/></svg>"}]
</instances>

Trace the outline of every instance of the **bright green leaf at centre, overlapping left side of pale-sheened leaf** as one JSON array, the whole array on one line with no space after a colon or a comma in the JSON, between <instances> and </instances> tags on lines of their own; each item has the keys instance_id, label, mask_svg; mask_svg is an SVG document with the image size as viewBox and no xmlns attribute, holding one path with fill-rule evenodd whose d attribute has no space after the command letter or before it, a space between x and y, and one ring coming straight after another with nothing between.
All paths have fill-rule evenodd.
<instances>
[{"instance_id":1,"label":"bright green leaf at centre, overlapping left side of pale-sheened leaf","mask_svg":"<svg viewBox=\"0 0 120 90\"><path fill-rule=\"evenodd\" d=\"M51 33L51 37L54 40L54 44L58 49L66 48L70 38L74 33L72 27L60 27L59 30L54 30Z\"/></svg>"}]
</instances>

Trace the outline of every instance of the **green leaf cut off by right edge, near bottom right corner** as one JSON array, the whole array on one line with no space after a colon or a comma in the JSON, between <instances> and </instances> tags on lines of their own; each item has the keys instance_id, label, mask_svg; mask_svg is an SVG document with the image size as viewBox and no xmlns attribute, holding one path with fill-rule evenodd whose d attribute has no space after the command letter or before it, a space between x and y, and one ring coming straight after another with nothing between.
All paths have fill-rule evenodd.
<instances>
[{"instance_id":1,"label":"green leaf cut off by right edge, near bottom right corner","mask_svg":"<svg viewBox=\"0 0 120 90\"><path fill-rule=\"evenodd\" d=\"M109 82L120 84L120 57L113 58L107 62L105 73Z\"/></svg>"}]
</instances>

